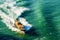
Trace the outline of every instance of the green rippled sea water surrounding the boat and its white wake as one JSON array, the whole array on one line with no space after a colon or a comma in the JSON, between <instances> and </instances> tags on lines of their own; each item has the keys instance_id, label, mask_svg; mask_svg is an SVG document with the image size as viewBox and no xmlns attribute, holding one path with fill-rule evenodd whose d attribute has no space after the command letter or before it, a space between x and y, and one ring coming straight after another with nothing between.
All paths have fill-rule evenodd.
<instances>
[{"instance_id":1,"label":"green rippled sea water surrounding the boat and its white wake","mask_svg":"<svg viewBox=\"0 0 60 40\"><path fill-rule=\"evenodd\" d=\"M18 6L31 9L21 16L33 25L34 31L22 36L8 29L0 18L0 40L60 40L60 0L19 0L17 2L19 2Z\"/></svg>"}]
</instances>

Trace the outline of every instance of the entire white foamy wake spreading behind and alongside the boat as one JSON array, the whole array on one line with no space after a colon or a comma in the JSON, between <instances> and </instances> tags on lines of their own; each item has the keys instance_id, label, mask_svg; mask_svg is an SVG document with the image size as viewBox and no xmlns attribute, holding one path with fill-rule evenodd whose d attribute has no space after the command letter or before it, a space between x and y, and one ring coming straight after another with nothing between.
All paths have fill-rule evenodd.
<instances>
[{"instance_id":1,"label":"entire white foamy wake spreading behind and alongside the boat","mask_svg":"<svg viewBox=\"0 0 60 40\"><path fill-rule=\"evenodd\" d=\"M24 33L23 31L14 27L14 22L15 22L16 18L22 14L22 12L28 11L30 9L26 8L26 7L13 6L12 4L14 4L14 3L13 2L11 2L11 3L5 2L4 4L2 4L0 6L0 8L2 8L3 10L7 10L7 13L9 14L9 15L6 15L3 11L0 10L0 16L2 18L2 22L4 22L7 25L7 27L9 29L11 29L12 31ZM10 6L10 5L12 5L12 6ZM10 7L10 9L7 7ZM24 22L23 22L23 24L24 24Z\"/></svg>"}]
</instances>

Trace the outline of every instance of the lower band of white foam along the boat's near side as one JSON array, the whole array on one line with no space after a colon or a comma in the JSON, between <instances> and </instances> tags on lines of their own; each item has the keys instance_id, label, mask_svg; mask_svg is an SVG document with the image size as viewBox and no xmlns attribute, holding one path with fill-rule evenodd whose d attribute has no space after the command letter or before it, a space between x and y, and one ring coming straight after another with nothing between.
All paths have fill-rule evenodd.
<instances>
[{"instance_id":1,"label":"lower band of white foam along the boat's near side","mask_svg":"<svg viewBox=\"0 0 60 40\"><path fill-rule=\"evenodd\" d=\"M11 29L12 31L24 33L23 31L14 27L14 19L10 18L8 15L3 13L2 11L0 11L0 16L2 18L2 22L4 22L9 29Z\"/></svg>"}]
</instances>

